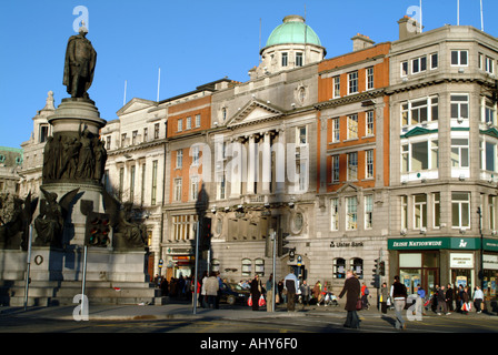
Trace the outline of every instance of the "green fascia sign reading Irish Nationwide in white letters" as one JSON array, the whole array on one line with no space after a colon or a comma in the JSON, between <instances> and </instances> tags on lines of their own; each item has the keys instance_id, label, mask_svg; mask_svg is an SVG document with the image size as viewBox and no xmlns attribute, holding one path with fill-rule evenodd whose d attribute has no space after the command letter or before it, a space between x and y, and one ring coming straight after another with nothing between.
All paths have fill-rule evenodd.
<instances>
[{"instance_id":1,"label":"green fascia sign reading Irish Nationwide in white letters","mask_svg":"<svg viewBox=\"0 0 498 355\"><path fill-rule=\"evenodd\" d=\"M486 250L498 251L498 241L485 240L489 243ZM486 242L485 242L486 246ZM396 239L388 240L388 250L390 251L416 251L416 250L480 250L480 239L477 237L419 237L419 239Z\"/></svg>"}]
</instances>

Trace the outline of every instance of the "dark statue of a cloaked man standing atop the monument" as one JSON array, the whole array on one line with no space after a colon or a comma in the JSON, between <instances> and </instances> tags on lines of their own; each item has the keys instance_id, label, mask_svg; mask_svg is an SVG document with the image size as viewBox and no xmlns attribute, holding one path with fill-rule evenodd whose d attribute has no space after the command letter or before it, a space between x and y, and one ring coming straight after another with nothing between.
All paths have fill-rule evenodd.
<instances>
[{"instance_id":1,"label":"dark statue of a cloaked man standing atop the monument","mask_svg":"<svg viewBox=\"0 0 498 355\"><path fill-rule=\"evenodd\" d=\"M63 84L71 98L89 99L87 93L93 81L97 62L97 52L86 38L88 33L84 24L80 27L79 34L71 36L66 49Z\"/></svg>"}]
</instances>

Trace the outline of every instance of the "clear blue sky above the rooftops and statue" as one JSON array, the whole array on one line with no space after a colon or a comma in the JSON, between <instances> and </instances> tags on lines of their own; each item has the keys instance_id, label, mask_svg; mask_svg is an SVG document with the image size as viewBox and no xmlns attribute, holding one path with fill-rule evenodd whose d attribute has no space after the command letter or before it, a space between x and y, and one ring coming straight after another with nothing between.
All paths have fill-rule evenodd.
<instances>
[{"instance_id":1,"label":"clear blue sky above the rooftops and statue","mask_svg":"<svg viewBox=\"0 0 498 355\"><path fill-rule=\"evenodd\" d=\"M398 39L397 21L419 0L1 0L0 145L29 140L32 118L48 91L67 98L62 72L67 40L88 9L97 69L89 94L102 119L117 119L127 101L160 100L225 77L248 81L260 48L285 16L305 16L327 58L350 52L351 37L377 43ZM498 1L484 0L485 31L498 37ZM306 10L305 10L306 9ZM460 0L460 24L480 29L479 0ZM305 12L306 11L306 12ZM414 14L414 13L409 13ZM425 31L457 24L457 0L424 0ZM261 23L261 27L260 27Z\"/></svg>"}]
</instances>

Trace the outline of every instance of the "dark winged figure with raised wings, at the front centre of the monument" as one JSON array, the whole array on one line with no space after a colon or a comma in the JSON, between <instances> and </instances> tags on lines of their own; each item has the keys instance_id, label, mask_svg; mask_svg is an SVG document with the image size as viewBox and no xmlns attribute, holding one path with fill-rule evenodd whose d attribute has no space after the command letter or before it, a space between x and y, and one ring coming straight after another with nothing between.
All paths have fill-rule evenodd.
<instances>
[{"instance_id":1,"label":"dark winged figure with raised wings, at the front centre of the monument","mask_svg":"<svg viewBox=\"0 0 498 355\"><path fill-rule=\"evenodd\" d=\"M34 245L62 247L64 221L79 189L66 193L59 202L57 202L57 193L41 186L40 190L44 199L40 203L40 214L34 219L34 230L38 235Z\"/></svg>"}]
</instances>

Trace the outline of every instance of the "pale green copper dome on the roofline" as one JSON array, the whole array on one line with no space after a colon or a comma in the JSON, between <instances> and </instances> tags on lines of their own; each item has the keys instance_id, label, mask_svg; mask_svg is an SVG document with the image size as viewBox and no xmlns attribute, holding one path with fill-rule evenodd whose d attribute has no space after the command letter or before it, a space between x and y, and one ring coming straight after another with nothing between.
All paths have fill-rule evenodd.
<instances>
[{"instance_id":1,"label":"pale green copper dome on the roofline","mask_svg":"<svg viewBox=\"0 0 498 355\"><path fill-rule=\"evenodd\" d=\"M302 17L296 14L287 16L283 19L283 23L271 32L266 47L287 43L307 43L321 47L317 33L305 23Z\"/></svg>"}]
</instances>

